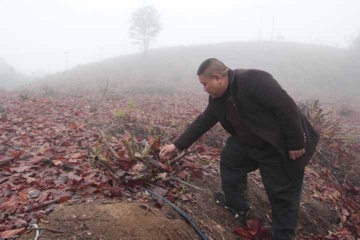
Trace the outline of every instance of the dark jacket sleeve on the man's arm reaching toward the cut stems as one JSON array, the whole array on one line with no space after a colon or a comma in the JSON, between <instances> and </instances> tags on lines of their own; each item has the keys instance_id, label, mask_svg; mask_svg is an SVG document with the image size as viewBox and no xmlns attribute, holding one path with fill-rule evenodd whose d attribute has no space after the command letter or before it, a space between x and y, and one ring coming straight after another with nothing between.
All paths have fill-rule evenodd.
<instances>
[{"instance_id":1,"label":"dark jacket sleeve on the man's arm reaching toward the cut stems","mask_svg":"<svg viewBox=\"0 0 360 240\"><path fill-rule=\"evenodd\" d=\"M208 129L216 124L218 120L211 111L211 107L212 105L209 103L205 110L200 113L184 130L184 132L173 142L179 150L183 150L191 146L192 143L194 143Z\"/></svg>"}]
</instances>

